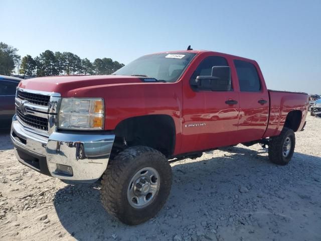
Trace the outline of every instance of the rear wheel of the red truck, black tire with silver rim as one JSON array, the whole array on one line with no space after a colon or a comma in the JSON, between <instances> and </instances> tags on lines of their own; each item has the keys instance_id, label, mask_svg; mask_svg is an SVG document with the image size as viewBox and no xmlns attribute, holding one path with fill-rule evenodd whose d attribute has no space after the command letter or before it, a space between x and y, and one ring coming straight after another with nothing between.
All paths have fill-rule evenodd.
<instances>
[{"instance_id":1,"label":"rear wheel of the red truck, black tire with silver rim","mask_svg":"<svg viewBox=\"0 0 321 241\"><path fill-rule=\"evenodd\" d=\"M277 165L287 165L293 156L295 148L294 132L284 127L279 136L269 140L269 159Z\"/></svg>"}]
</instances>

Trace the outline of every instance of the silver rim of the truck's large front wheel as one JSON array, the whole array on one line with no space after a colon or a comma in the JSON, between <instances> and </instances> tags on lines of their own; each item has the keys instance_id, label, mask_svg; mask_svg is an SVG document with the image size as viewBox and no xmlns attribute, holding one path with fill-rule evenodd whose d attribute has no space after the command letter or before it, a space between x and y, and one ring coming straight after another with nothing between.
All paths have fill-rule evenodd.
<instances>
[{"instance_id":1,"label":"silver rim of the truck's large front wheel","mask_svg":"<svg viewBox=\"0 0 321 241\"><path fill-rule=\"evenodd\" d=\"M148 206L156 197L161 180L152 167L140 169L131 178L127 188L127 199L134 208Z\"/></svg>"}]
</instances>

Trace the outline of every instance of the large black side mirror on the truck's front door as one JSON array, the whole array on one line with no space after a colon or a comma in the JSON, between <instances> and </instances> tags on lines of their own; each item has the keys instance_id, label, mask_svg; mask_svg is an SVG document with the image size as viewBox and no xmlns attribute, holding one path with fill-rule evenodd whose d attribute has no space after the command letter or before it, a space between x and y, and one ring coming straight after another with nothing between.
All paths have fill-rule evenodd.
<instances>
[{"instance_id":1,"label":"large black side mirror on the truck's front door","mask_svg":"<svg viewBox=\"0 0 321 241\"><path fill-rule=\"evenodd\" d=\"M212 76L197 76L190 80L194 89L229 91L231 90L231 69L229 66L213 66Z\"/></svg>"}]
</instances>

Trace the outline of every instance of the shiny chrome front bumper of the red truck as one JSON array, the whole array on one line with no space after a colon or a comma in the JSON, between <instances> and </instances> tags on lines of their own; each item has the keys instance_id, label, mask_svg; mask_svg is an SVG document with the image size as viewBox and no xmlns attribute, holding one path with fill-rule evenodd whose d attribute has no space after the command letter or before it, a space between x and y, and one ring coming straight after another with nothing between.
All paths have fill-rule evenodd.
<instances>
[{"instance_id":1,"label":"shiny chrome front bumper of the red truck","mask_svg":"<svg viewBox=\"0 0 321 241\"><path fill-rule=\"evenodd\" d=\"M44 137L28 131L14 117L11 139L18 160L26 166L62 180L93 183L107 168L115 135L65 131ZM71 173L62 172L61 165L72 168Z\"/></svg>"}]
</instances>

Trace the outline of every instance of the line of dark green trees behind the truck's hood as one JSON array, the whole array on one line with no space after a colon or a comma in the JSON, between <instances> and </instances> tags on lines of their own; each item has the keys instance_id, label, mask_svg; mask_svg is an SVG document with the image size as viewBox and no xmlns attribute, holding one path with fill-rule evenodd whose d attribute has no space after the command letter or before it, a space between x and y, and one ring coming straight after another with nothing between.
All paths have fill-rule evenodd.
<instances>
[{"instance_id":1,"label":"line of dark green trees behind the truck's hood","mask_svg":"<svg viewBox=\"0 0 321 241\"><path fill-rule=\"evenodd\" d=\"M26 55L22 59L17 52L16 48L0 42L0 74L11 75L17 67L19 74L25 76L102 75L112 74L124 66L110 58L97 58L91 62L70 52L46 50L34 58Z\"/></svg>"}]
</instances>

